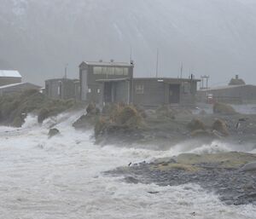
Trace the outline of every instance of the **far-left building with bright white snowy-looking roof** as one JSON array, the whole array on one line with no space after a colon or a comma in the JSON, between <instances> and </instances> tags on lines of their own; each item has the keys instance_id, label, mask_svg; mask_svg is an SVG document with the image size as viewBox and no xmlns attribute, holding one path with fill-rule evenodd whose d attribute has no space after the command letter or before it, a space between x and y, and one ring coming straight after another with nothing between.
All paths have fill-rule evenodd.
<instances>
[{"instance_id":1,"label":"far-left building with bright white snowy-looking roof","mask_svg":"<svg viewBox=\"0 0 256 219\"><path fill-rule=\"evenodd\" d=\"M0 86L21 83L21 75L18 71L0 70Z\"/></svg>"}]
</instances>

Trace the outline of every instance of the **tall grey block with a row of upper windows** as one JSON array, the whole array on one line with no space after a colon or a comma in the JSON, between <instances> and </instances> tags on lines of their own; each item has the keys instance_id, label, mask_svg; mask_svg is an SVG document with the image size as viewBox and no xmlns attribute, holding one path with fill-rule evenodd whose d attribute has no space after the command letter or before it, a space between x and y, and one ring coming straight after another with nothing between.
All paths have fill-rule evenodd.
<instances>
[{"instance_id":1,"label":"tall grey block with a row of upper windows","mask_svg":"<svg viewBox=\"0 0 256 219\"><path fill-rule=\"evenodd\" d=\"M79 66L82 101L131 102L133 63L84 61Z\"/></svg>"}]
</instances>

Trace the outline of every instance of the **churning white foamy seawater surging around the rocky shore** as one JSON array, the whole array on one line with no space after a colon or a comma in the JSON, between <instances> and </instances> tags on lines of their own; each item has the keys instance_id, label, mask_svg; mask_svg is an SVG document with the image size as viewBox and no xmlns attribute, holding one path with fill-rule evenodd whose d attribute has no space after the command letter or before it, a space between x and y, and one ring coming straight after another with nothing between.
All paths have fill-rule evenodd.
<instances>
[{"instance_id":1,"label":"churning white foamy seawater surging around the rocky shore","mask_svg":"<svg viewBox=\"0 0 256 219\"><path fill-rule=\"evenodd\" d=\"M184 142L168 151L99 147L91 131L73 130L70 124L78 117L61 115L39 126L29 116L19 130L0 127L1 219L255 218L255 206L224 205L197 185L133 185L102 175L130 162L233 147L218 141L199 147ZM56 121L61 135L48 139L48 127Z\"/></svg>"}]
</instances>

